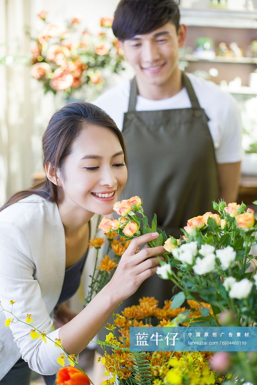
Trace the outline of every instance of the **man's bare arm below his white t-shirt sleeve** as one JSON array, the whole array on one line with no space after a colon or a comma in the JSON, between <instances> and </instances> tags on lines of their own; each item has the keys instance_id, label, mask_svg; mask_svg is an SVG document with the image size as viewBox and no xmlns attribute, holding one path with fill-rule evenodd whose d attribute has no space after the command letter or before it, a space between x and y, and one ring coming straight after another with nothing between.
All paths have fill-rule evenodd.
<instances>
[{"instance_id":1,"label":"man's bare arm below his white t-shirt sleeve","mask_svg":"<svg viewBox=\"0 0 257 385\"><path fill-rule=\"evenodd\" d=\"M219 198L224 199L228 204L235 202L238 195L240 164L235 163L218 163L218 182L219 182Z\"/></svg>"}]
</instances>

